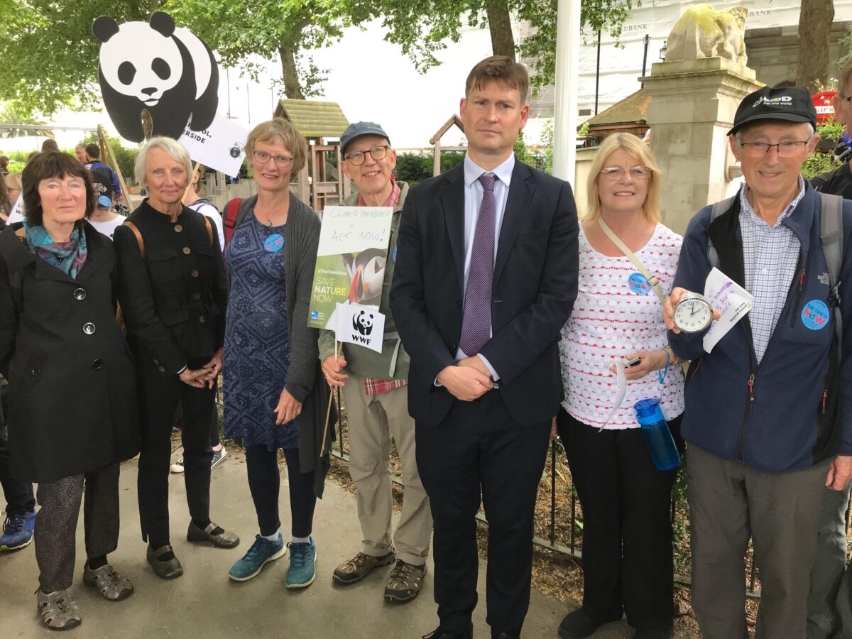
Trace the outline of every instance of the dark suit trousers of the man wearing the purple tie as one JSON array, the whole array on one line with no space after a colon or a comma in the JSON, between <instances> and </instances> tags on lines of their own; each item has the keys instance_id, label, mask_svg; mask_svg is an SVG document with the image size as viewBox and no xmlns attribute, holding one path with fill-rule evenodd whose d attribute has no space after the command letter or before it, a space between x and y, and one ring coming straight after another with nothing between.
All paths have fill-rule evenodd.
<instances>
[{"instance_id":1,"label":"dark suit trousers of the man wearing the purple tie","mask_svg":"<svg viewBox=\"0 0 852 639\"><path fill-rule=\"evenodd\" d=\"M488 520L487 622L520 632L533 567L533 515L550 421L516 423L498 390L455 400L434 427L418 423L417 468L435 519L435 602L443 629L467 630L476 607L475 515Z\"/></svg>"}]
</instances>

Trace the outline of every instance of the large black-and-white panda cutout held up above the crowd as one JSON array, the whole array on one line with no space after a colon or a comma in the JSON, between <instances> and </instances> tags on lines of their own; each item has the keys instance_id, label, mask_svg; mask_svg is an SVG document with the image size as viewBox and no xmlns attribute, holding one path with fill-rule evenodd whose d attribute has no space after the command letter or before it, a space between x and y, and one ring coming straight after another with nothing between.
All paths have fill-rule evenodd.
<instances>
[{"instance_id":1,"label":"large black-and-white panda cutout held up above the crowd","mask_svg":"<svg viewBox=\"0 0 852 639\"><path fill-rule=\"evenodd\" d=\"M141 142L141 112L153 120L153 135L179 138L188 127L210 126L219 105L219 69L199 37L177 28L157 11L148 22L101 16L92 25L101 41L98 72L101 95L118 133Z\"/></svg>"}]
</instances>

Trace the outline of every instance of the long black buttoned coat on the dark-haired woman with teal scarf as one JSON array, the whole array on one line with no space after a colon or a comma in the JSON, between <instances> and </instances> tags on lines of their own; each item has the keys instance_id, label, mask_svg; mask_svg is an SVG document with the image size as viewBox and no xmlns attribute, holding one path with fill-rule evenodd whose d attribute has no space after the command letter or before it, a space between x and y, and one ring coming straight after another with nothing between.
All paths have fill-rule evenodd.
<instances>
[{"instance_id":1,"label":"long black buttoned coat on the dark-haired woman with teal scarf","mask_svg":"<svg viewBox=\"0 0 852 639\"><path fill-rule=\"evenodd\" d=\"M112 242L85 222L89 255L72 279L33 255L20 227L0 233L9 451L14 476L50 482L139 451L135 372L115 317Z\"/></svg>"}]
</instances>

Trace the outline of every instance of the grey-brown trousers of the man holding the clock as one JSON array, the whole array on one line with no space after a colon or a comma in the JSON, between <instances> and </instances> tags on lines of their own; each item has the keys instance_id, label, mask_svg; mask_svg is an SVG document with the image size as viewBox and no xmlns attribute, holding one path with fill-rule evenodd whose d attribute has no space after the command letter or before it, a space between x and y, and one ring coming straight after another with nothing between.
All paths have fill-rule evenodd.
<instances>
[{"instance_id":1,"label":"grey-brown trousers of the man holding the clock","mask_svg":"<svg viewBox=\"0 0 852 639\"><path fill-rule=\"evenodd\" d=\"M692 604L706 639L746 630L746 547L760 572L756 639L806 635L810 568L828 462L767 473L698 446L687 453Z\"/></svg>"}]
</instances>

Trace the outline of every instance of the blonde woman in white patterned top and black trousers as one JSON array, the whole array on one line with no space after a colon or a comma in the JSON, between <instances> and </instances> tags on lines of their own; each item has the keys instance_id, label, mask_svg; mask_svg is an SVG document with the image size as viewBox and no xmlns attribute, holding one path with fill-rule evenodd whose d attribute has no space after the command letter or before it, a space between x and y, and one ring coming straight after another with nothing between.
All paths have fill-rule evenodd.
<instances>
[{"instance_id":1,"label":"blonde woman in white patterned top and black trousers","mask_svg":"<svg viewBox=\"0 0 852 639\"><path fill-rule=\"evenodd\" d=\"M588 214L579 234L579 295L560 342L565 400L556 419L583 507L583 607L561 637L590 636L621 619L636 639L668 639L673 620L671 486L676 470L654 468L633 405L660 397L682 450L683 373L668 348L662 302L613 244L599 220L671 291L682 237L663 226L662 176L635 135L610 135L592 164ZM627 388L619 406L616 366ZM666 363L669 362L666 370Z\"/></svg>"}]
</instances>

